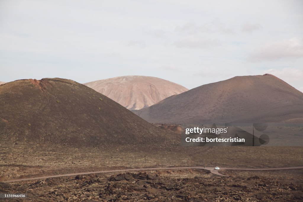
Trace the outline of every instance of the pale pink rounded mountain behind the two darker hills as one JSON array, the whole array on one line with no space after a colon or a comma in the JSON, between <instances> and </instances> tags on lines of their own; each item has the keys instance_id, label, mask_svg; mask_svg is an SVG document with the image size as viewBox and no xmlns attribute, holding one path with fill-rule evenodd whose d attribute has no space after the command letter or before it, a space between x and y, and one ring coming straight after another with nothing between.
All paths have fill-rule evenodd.
<instances>
[{"instance_id":1,"label":"pale pink rounded mountain behind the two darker hills","mask_svg":"<svg viewBox=\"0 0 303 202\"><path fill-rule=\"evenodd\" d=\"M85 83L127 109L142 109L188 89L151 76L120 76Z\"/></svg>"}]
</instances>

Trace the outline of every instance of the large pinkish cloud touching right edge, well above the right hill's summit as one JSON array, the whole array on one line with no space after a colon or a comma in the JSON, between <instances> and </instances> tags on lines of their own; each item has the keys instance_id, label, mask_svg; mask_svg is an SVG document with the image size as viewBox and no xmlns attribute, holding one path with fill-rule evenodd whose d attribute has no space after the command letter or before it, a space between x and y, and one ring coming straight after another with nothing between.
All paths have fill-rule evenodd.
<instances>
[{"instance_id":1,"label":"large pinkish cloud touching right edge, well above the right hill's summit","mask_svg":"<svg viewBox=\"0 0 303 202\"><path fill-rule=\"evenodd\" d=\"M281 58L303 57L303 40L298 38L281 41L269 41L259 46L248 57L249 61L259 62L264 60L277 60Z\"/></svg>"}]
</instances>

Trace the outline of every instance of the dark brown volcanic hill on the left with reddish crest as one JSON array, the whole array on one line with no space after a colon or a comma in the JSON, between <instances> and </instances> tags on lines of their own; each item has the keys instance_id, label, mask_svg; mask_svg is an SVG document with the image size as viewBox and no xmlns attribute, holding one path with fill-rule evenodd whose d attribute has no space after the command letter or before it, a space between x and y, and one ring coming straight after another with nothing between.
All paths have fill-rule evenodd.
<instances>
[{"instance_id":1,"label":"dark brown volcanic hill on the left with reddish crest","mask_svg":"<svg viewBox=\"0 0 303 202\"><path fill-rule=\"evenodd\" d=\"M165 144L161 130L95 90L67 79L25 79L0 86L0 138L50 145Z\"/></svg>"}]
</instances>

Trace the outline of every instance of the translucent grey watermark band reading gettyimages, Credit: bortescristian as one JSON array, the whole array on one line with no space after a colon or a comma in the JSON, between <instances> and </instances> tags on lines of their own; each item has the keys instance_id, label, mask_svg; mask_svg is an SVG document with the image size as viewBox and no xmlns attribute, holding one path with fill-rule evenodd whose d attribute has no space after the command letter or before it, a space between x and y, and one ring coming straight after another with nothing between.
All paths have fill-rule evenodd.
<instances>
[{"instance_id":1,"label":"translucent grey watermark band reading gettyimages, Credit: bortescristian","mask_svg":"<svg viewBox=\"0 0 303 202\"><path fill-rule=\"evenodd\" d=\"M185 127L182 146L303 146L303 124L214 123Z\"/></svg>"}]
</instances>

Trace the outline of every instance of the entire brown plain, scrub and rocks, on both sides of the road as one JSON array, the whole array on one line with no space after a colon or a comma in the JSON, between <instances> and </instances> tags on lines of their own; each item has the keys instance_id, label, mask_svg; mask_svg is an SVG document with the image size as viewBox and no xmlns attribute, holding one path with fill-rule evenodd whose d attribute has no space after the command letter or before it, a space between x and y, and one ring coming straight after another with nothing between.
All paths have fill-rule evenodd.
<instances>
[{"instance_id":1,"label":"entire brown plain, scrub and rocks, on both sides of the road","mask_svg":"<svg viewBox=\"0 0 303 202\"><path fill-rule=\"evenodd\" d=\"M138 149L50 148L1 145L1 181L64 173L144 167L301 166L302 147L193 147ZM35 201L295 201L303 200L303 170L198 169L106 173L1 183L2 193L27 193ZM16 200L18 201L18 200Z\"/></svg>"}]
</instances>

